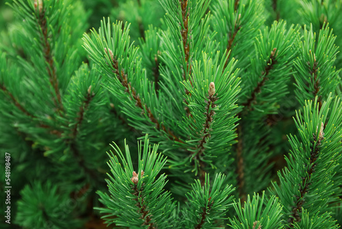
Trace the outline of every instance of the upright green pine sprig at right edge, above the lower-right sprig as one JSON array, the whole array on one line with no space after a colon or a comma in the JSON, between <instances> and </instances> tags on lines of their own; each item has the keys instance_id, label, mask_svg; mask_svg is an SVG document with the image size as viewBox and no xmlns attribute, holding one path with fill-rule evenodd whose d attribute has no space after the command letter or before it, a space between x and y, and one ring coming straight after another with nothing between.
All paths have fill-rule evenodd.
<instances>
[{"instance_id":1,"label":"upright green pine sprig at right edge, above the lower-right sprig","mask_svg":"<svg viewBox=\"0 0 342 229\"><path fill-rule=\"evenodd\" d=\"M334 45L336 36L328 25L323 25L316 40L313 25L307 30L304 27L303 40L298 43L300 55L295 60L295 95L301 104L305 99L318 97L319 108L330 92L337 90L340 70L336 70L334 62L338 47Z\"/></svg>"}]
</instances>

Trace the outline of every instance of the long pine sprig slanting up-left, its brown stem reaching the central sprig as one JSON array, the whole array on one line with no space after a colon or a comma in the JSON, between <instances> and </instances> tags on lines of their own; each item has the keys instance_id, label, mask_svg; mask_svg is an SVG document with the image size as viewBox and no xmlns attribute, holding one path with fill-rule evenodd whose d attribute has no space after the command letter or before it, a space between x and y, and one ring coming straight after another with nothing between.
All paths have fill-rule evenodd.
<instances>
[{"instance_id":1,"label":"long pine sprig slanting up-left, its brown stem reaching the central sprig","mask_svg":"<svg viewBox=\"0 0 342 229\"><path fill-rule=\"evenodd\" d=\"M166 136L169 141L182 142L157 119L157 109L152 110L160 106L159 100L141 69L141 60L137 60L137 48L130 43L128 29L127 23L122 29L122 22L111 25L109 20L107 23L101 21L99 33L92 29L93 38L87 34L84 36L83 47L105 71L104 76L112 86L107 88L120 98L119 103L125 107L124 113L131 118L133 128L141 130L144 123L144 132L155 132L154 136ZM147 102L152 106L148 106Z\"/></svg>"}]
</instances>

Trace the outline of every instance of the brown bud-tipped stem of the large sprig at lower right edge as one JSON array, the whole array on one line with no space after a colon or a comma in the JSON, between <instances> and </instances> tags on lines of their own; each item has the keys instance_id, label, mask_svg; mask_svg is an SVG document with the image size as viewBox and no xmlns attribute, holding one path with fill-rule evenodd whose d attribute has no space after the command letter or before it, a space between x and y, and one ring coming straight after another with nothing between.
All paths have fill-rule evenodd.
<instances>
[{"instance_id":1,"label":"brown bud-tipped stem of the large sprig at lower right edge","mask_svg":"<svg viewBox=\"0 0 342 229\"><path fill-rule=\"evenodd\" d=\"M324 138L324 132L323 132L323 128L324 128L324 123L321 123L321 131L319 132L319 137L318 137L318 141L315 135L313 135L313 141L311 141L311 152L310 155L311 157L309 158L309 163L308 163L308 168L306 169L306 173L308 174L307 176L304 176L302 178L302 182L300 182L300 184L298 184L298 186L300 187L299 191L300 191L300 195L297 195L296 200L295 200L295 206L292 208L292 214L291 217L289 218L289 224L290 224L290 228L293 228L293 224L295 222L300 222L301 221L301 216L300 213L302 213L302 206L304 204L304 199L302 198L309 189L310 186L310 181L311 181L311 177L313 176L313 173L315 172L315 167L317 165L316 160L319 156L319 145L321 145L321 140ZM316 143L317 141L317 143ZM302 184L305 184L304 187Z\"/></svg>"}]
</instances>

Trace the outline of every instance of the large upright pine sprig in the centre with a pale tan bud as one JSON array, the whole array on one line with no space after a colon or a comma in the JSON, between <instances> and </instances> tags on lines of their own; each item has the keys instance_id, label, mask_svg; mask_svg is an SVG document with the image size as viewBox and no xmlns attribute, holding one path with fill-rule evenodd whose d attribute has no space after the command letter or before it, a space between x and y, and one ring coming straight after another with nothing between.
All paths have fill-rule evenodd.
<instances>
[{"instance_id":1,"label":"large upright pine sprig in the centre with a pale tan bud","mask_svg":"<svg viewBox=\"0 0 342 229\"><path fill-rule=\"evenodd\" d=\"M181 128L189 133L189 140L179 145L189 155L170 155L170 168L181 169L186 165L185 171L194 171L195 176L202 177L202 182L205 171L215 168L213 158L224 156L236 136L233 129L237 117L233 110L237 108L234 102L239 93L238 70L235 71L235 60L224 68L227 57L220 60L219 56L216 53L212 59L203 53L202 60L194 62L192 82L183 82L191 94L185 99L192 117L183 118Z\"/></svg>"}]
</instances>

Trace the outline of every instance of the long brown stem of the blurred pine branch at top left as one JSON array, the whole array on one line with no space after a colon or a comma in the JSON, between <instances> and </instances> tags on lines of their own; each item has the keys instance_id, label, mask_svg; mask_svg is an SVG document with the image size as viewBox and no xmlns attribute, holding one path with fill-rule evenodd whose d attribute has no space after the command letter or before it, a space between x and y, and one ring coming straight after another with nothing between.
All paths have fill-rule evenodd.
<instances>
[{"instance_id":1,"label":"long brown stem of the blurred pine branch at top left","mask_svg":"<svg viewBox=\"0 0 342 229\"><path fill-rule=\"evenodd\" d=\"M38 1L38 5L37 5L37 1L35 1L35 8L36 10L38 8L38 15L37 14L35 15L36 15L38 27L40 27L40 30L41 30L42 36L40 37L40 40L42 41L41 45L43 48L44 59L48 64L47 72L49 74L49 81L57 97L57 101L56 101L55 97L53 96L53 102L55 103L55 106L59 107L60 110L63 110L62 97L60 95L60 90L58 86L55 63L53 61L51 44L49 43L48 22L47 22L47 16L45 15L46 10L44 9L42 1Z\"/></svg>"}]
</instances>

